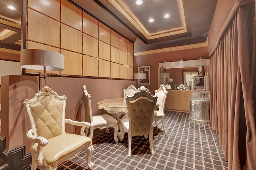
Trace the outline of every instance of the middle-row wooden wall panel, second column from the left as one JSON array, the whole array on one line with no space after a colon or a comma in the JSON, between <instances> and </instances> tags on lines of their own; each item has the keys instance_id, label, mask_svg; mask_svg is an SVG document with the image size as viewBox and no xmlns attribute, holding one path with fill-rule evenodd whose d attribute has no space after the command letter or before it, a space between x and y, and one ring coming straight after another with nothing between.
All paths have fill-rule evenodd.
<instances>
[{"instance_id":1,"label":"middle-row wooden wall panel, second column from the left","mask_svg":"<svg viewBox=\"0 0 256 170\"><path fill-rule=\"evenodd\" d=\"M82 53L82 32L65 24L61 24L60 27L60 47L63 49L68 49L70 51Z\"/></svg>"}]
</instances>

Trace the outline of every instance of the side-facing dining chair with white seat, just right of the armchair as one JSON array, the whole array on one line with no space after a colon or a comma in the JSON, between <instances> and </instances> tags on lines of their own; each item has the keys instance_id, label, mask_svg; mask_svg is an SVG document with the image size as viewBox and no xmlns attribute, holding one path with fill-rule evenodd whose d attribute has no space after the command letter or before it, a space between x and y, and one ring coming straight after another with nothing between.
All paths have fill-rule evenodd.
<instances>
[{"instance_id":1,"label":"side-facing dining chair with white seat, just right of the armchair","mask_svg":"<svg viewBox=\"0 0 256 170\"><path fill-rule=\"evenodd\" d=\"M92 116L91 96L90 94L88 94L88 91L86 90L85 85L83 86L83 101L84 101L85 121L91 124L89 128L86 128L85 134L87 135L88 129L90 129L90 138L92 139L94 129L106 128L106 132L109 132L108 128L114 128L114 140L117 143L118 142L117 133L119 129L117 125L117 120L108 114Z\"/></svg>"}]
</instances>

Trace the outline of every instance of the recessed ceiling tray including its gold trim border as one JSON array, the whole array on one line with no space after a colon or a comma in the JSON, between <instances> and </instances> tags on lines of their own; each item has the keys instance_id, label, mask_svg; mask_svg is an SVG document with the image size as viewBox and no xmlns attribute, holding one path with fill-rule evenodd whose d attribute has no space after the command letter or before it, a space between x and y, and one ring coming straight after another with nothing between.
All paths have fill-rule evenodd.
<instances>
[{"instance_id":1,"label":"recessed ceiling tray including its gold trim border","mask_svg":"<svg viewBox=\"0 0 256 170\"><path fill-rule=\"evenodd\" d=\"M148 40L186 33L182 0L108 0ZM164 18L168 14L170 17ZM149 22L153 19L154 22Z\"/></svg>"}]
</instances>

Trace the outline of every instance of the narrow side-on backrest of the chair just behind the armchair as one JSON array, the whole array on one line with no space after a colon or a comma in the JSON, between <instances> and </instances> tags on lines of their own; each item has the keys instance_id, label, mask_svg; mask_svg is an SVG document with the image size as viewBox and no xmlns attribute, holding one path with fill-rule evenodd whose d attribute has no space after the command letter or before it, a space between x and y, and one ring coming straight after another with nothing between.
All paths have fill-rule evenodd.
<instances>
[{"instance_id":1,"label":"narrow side-on backrest of the chair just behind the armchair","mask_svg":"<svg viewBox=\"0 0 256 170\"><path fill-rule=\"evenodd\" d=\"M85 85L83 86L83 102L84 102L85 121L91 123L91 127L93 127L91 95L88 94L88 91L86 90Z\"/></svg>"}]
</instances>

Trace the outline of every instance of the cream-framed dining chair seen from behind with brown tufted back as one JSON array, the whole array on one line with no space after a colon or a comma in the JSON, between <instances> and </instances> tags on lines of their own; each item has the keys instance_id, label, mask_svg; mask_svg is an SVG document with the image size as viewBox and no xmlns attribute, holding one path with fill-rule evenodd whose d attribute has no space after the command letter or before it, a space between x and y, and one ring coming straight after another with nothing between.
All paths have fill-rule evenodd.
<instances>
[{"instance_id":1,"label":"cream-framed dining chair seen from behind with brown tufted back","mask_svg":"<svg viewBox=\"0 0 256 170\"><path fill-rule=\"evenodd\" d=\"M132 136L143 135L149 135L150 150L154 154L152 122L156 100L157 97L152 96L146 89L126 98L128 119L120 121L120 140L122 141L124 133L128 132L128 156L131 156Z\"/></svg>"}]
</instances>

